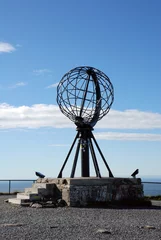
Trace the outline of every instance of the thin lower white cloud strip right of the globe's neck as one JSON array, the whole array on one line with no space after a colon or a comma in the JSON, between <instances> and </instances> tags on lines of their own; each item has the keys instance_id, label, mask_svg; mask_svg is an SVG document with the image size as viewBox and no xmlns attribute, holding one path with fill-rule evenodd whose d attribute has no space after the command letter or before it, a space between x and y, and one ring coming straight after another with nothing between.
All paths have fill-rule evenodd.
<instances>
[{"instance_id":1,"label":"thin lower white cloud strip right of the globe's neck","mask_svg":"<svg viewBox=\"0 0 161 240\"><path fill-rule=\"evenodd\" d=\"M161 141L161 134L149 134L149 133L97 132L95 133L95 137L101 140Z\"/></svg>"}]
</instances>

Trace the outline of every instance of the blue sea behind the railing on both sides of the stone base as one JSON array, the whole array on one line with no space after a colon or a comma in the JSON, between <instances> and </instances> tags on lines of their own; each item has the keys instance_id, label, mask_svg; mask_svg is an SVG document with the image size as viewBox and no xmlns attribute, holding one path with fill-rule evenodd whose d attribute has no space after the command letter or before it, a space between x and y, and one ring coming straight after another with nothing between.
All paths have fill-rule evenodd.
<instances>
[{"instance_id":1,"label":"blue sea behind the railing on both sides of the stone base","mask_svg":"<svg viewBox=\"0 0 161 240\"><path fill-rule=\"evenodd\" d=\"M161 195L161 178L142 178L142 182L159 182L160 184L154 183L143 183L144 195L145 196L157 196ZM33 181L12 181L11 192L20 191L23 192L25 188L32 187ZM0 181L0 192L9 192L9 182Z\"/></svg>"}]
</instances>

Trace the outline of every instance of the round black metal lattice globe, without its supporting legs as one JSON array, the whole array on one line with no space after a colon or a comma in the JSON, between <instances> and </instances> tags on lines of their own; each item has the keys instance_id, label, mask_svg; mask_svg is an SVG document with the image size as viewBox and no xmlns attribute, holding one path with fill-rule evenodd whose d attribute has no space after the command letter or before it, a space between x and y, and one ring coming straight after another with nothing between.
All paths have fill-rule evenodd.
<instances>
[{"instance_id":1,"label":"round black metal lattice globe, without its supporting legs","mask_svg":"<svg viewBox=\"0 0 161 240\"><path fill-rule=\"evenodd\" d=\"M105 116L113 103L110 79L92 67L77 67L66 73L57 87L57 103L62 113L76 125L90 125Z\"/></svg>"}]
</instances>

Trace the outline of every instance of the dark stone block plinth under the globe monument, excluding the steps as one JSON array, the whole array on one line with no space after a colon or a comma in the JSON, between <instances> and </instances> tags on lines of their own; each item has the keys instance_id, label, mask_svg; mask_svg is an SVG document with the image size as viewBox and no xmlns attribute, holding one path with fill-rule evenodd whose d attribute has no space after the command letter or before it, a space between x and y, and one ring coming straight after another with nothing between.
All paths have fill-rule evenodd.
<instances>
[{"instance_id":1,"label":"dark stone block plinth under the globe monument, excluding the steps","mask_svg":"<svg viewBox=\"0 0 161 240\"><path fill-rule=\"evenodd\" d=\"M71 207L144 197L140 178L39 178L34 186L44 183L55 186L53 197L61 197Z\"/></svg>"}]
</instances>

